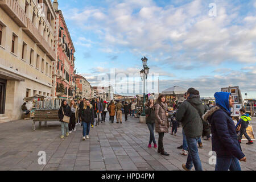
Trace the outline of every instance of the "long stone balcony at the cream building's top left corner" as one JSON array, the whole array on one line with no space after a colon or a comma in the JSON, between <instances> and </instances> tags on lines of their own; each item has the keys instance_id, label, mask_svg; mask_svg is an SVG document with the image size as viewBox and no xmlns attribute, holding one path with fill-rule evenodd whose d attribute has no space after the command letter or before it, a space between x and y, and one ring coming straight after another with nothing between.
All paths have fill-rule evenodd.
<instances>
[{"instance_id":1,"label":"long stone balcony at the cream building's top left corner","mask_svg":"<svg viewBox=\"0 0 256 182\"><path fill-rule=\"evenodd\" d=\"M27 26L27 15L17 1L0 0L0 6L19 25L19 27Z\"/></svg>"}]
</instances>

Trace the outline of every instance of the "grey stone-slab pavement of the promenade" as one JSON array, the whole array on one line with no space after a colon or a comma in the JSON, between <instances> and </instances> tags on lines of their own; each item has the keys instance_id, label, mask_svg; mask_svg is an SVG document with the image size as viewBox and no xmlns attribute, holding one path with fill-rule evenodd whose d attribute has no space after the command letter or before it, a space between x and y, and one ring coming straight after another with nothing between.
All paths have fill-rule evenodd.
<instances>
[{"instance_id":1,"label":"grey stone-slab pavement of the promenade","mask_svg":"<svg viewBox=\"0 0 256 182\"><path fill-rule=\"evenodd\" d=\"M106 121L108 121L108 117ZM256 119L253 122L256 129ZM59 122L48 123L31 131L31 121L19 120L0 124L0 170L182 170L187 160L177 149L181 145L181 128L177 136L164 135L164 148L170 156L162 156L154 148L148 149L149 132L146 124L131 118L123 124L101 123L90 130L90 139L82 141L82 127L69 137L60 139ZM38 127L38 123L36 125ZM156 141L158 134L155 134ZM247 162L243 170L256 170L256 144L242 149ZM199 149L204 170L214 170L208 163L211 142L203 141ZM45 151L46 165L38 164L38 152Z\"/></svg>"}]
</instances>

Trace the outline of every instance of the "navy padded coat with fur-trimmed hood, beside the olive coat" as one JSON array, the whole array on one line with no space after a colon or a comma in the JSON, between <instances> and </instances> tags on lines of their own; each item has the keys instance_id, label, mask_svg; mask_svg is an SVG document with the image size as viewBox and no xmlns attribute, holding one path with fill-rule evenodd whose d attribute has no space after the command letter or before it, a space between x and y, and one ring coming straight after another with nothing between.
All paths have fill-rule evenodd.
<instances>
[{"instance_id":1,"label":"navy padded coat with fur-trimmed hood, beside the olive coat","mask_svg":"<svg viewBox=\"0 0 256 182\"><path fill-rule=\"evenodd\" d=\"M212 107L203 115L209 121L212 131L212 150L217 156L235 156L238 160L245 157L237 139L236 127L230 112L220 105Z\"/></svg>"}]
</instances>

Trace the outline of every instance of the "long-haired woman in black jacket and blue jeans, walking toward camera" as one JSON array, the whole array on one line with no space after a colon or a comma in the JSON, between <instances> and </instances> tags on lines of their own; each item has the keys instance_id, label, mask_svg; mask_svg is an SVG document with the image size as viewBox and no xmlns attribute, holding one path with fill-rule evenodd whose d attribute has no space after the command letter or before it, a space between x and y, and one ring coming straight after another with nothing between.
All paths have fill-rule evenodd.
<instances>
[{"instance_id":1,"label":"long-haired woman in black jacket and blue jeans, walking toward camera","mask_svg":"<svg viewBox=\"0 0 256 182\"><path fill-rule=\"evenodd\" d=\"M82 140L89 139L90 123L94 122L94 110L89 100L86 100L81 110Z\"/></svg>"}]
</instances>

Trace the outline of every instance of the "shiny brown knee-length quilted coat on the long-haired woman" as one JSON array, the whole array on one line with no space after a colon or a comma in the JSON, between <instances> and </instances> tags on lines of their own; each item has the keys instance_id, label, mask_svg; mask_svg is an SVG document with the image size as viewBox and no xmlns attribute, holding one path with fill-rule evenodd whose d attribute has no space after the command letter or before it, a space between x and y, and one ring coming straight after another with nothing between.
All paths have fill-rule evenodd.
<instances>
[{"instance_id":1,"label":"shiny brown knee-length quilted coat on the long-haired woman","mask_svg":"<svg viewBox=\"0 0 256 182\"><path fill-rule=\"evenodd\" d=\"M169 122L167 113L167 104L156 102L155 104L155 132L168 133Z\"/></svg>"}]
</instances>

